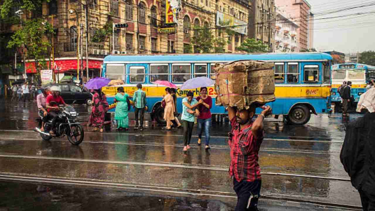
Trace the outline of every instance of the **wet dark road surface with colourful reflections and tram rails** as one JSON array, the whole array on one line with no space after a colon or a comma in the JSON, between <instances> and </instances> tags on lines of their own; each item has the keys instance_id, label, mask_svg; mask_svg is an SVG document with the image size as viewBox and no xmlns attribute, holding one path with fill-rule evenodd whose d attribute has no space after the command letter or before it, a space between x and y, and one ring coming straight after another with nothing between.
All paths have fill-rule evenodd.
<instances>
[{"instance_id":1,"label":"wet dark road surface with colourful reflections and tram rails","mask_svg":"<svg viewBox=\"0 0 375 211\"><path fill-rule=\"evenodd\" d=\"M88 108L75 107L86 125ZM67 139L44 142L32 131L35 104L15 107L1 101L0 113L0 179L13 181L15 189L26 188L20 181L34 187L26 192L36 191L37 184L49 185L47 189L67 195L64 203L71 191L86 191L90 200L104 200L100 195L105 194L113 202L129 199L123 203L134 206L146 198L150 207L160 201L170 204L155 210L219 210L208 208L216 206L231 210L236 203L227 172L228 122L213 125L208 152L195 144L195 136L192 149L184 154L182 130L163 131L151 122L146 122L147 130L142 132L115 133L113 126L112 131L101 134L85 127L85 140L77 147ZM358 116L344 120L338 115L313 116L304 126L284 125L281 117L266 118L266 139L260 151L260 208L360 208L359 194L339 160L345 125ZM9 194L0 199L11 196L14 188L8 187ZM42 192L38 193L45 194ZM90 206L83 200L77 203ZM133 210L145 210L145 206Z\"/></svg>"}]
</instances>

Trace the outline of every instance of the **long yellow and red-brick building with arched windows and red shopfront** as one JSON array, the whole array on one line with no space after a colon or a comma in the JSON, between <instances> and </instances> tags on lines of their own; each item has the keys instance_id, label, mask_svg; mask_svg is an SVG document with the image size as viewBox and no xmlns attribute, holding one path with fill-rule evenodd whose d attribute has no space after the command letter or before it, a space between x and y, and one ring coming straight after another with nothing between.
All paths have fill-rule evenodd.
<instances>
[{"instance_id":1,"label":"long yellow and red-brick building with arched windows and red shopfront","mask_svg":"<svg viewBox=\"0 0 375 211\"><path fill-rule=\"evenodd\" d=\"M51 0L43 3L43 15L48 17L46 21L53 22L56 31L53 38L56 65L52 66L58 68L61 77L62 72L76 74L78 56L80 74L84 78L87 75L86 49L89 77L100 74L102 59L111 53L194 52L190 46L193 26L207 28L214 36L228 39L226 52L235 52L247 35L250 4L246 0L179 0L177 3L180 12L174 14L174 24L169 25L166 24L165 0ZM238 26L233 28L234 35L227 36L219 30L223 25L220 20L228 21L229 26ZM116 28L113 33L113 23L127 23L128 27ZM26 63L26 70L29 74L36 72L32 61Z\"/></svg>"}]
</instances>

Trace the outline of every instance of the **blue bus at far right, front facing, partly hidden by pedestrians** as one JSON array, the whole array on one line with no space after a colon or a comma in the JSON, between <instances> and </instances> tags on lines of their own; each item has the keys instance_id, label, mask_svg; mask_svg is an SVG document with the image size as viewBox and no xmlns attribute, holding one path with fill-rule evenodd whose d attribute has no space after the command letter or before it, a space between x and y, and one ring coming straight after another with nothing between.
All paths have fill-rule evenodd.
<instances>
[{"instance_id":1,"label":"blue bus at far right, front facing, partly hidden by pedestrians","mask_svg":"<svg viewBox=\"0 0 375 211\"><path fill-rule=\"evenodd\" d=\"M335 105L335 108L341 107L341 96L338 93L338 87L341 86L344 81L352 82L351 95L354 98L354 103L358 103L360 96L366 92L367 82L371 78L375 78L375 66L358 63L347 63L332 65L331 69L331 102Z\"/></svg>"}]
</instances>

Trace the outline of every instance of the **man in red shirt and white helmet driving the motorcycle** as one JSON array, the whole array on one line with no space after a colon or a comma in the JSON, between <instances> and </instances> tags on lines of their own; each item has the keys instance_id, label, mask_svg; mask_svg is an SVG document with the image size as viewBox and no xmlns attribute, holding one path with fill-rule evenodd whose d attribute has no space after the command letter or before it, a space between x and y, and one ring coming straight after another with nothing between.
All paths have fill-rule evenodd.
<instances>
[{"instance_id":1,"label":"man in red shirt and white helmet driving the motorcycle","mask_svg":"<svg viewBox=\"0 0 375 211\"><path fill-rule=\"evenodd\" d=\"M52 119L52 129L49 131L49 134L54 136L55 133L53 132L53 128L56 126L56 112L58 111L58 105L63 104L64 106L67 106L68 104L66 104L64 99L60 96L61 89L59 86L51 86L50 90L52 91L52 95L49 95L46 98L46 107L48 111L48 118ZM52 102L54 102L54 104Z\"/></svg>"}]
</instances>

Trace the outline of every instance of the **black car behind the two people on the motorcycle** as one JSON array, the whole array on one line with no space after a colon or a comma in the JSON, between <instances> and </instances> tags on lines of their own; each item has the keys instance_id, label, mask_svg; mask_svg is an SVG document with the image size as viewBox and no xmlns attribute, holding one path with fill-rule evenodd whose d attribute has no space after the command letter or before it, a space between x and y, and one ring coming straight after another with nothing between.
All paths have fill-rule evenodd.
<instances>
[{"instance_id":1,"label":"black car behind the two people on the motorcycle","mask_svg":"<svg viewBox=\"0 0 375 211\"><path fill-rule=\"evenodd\" d=\"M75 101L75 103L77 104L92 104L93 94L75 84L54 83L43 85L41 88L43 89L45 86L59 86L61 89L60 95L62 96L66 104L72 104L73 101Z\"/></svg>"}]
</instances>

